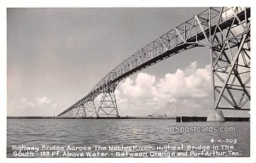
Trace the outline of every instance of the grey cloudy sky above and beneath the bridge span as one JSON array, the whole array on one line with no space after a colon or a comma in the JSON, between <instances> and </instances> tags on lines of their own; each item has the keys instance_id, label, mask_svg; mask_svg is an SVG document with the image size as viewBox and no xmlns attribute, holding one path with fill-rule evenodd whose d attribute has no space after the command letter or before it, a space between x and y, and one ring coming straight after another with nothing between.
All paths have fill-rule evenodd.
<instances>
[{"instance_id":1,"label":"grey cloudy sky above and beneath the bridge span","mask_svg":"<svg viewBox=\"0 0 256 163\"><path fill-rule=\"evenodd\" d=\"M204 9L8 8L8 115L60 114L116 65ZM207 115L213 110L209 49L152 65L115 93L119 115Z\"/></svg>"}]
</instances>

